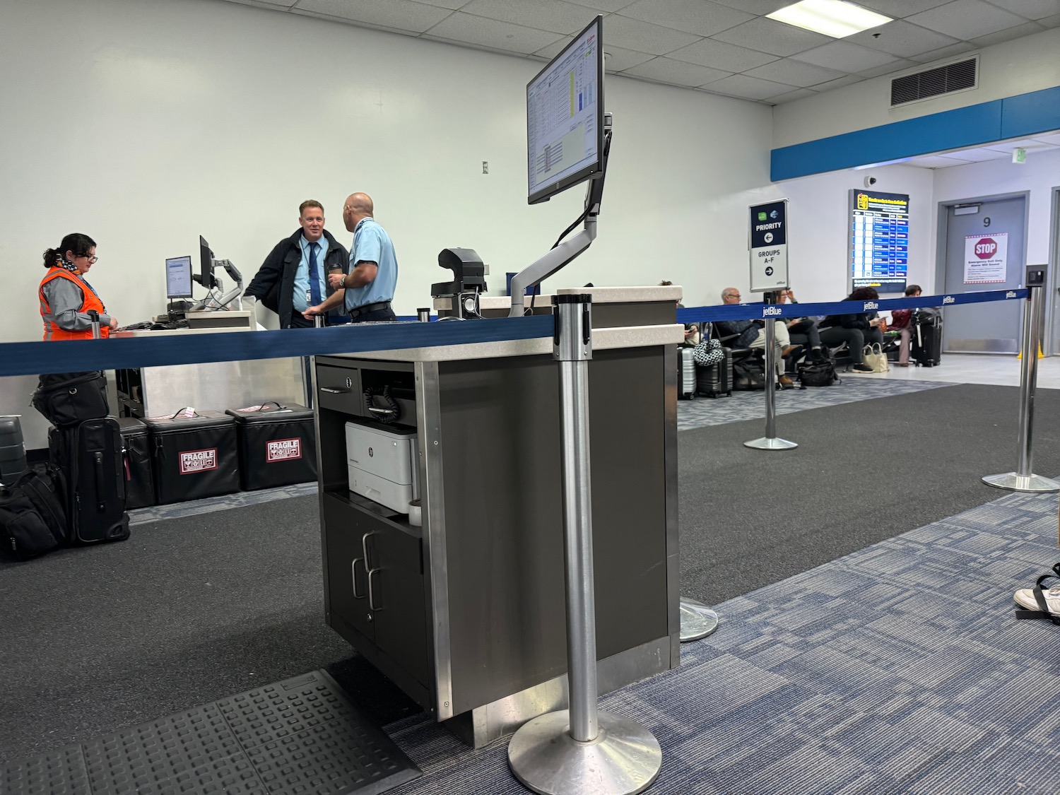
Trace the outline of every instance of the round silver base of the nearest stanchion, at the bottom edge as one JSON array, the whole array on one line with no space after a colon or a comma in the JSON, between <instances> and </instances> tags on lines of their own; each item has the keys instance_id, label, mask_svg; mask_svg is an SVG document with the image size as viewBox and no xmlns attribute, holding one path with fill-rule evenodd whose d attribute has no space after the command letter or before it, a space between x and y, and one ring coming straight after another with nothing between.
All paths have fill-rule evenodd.
<instances>
[{"instance_id":1,"label":"round silver base of the nearest stanchion, at the bottom edge","mask_svg":"<svg viewBox=\"0 0 1060 795\"><path fill-rule=\"evenodd\" d=\"M596 740L570 737L563 709L524 724L508 745L515 778L541 795L634 795L655 781L662 749L651 731L611 712L598 712Z\"/></svg>"}]
</instances>

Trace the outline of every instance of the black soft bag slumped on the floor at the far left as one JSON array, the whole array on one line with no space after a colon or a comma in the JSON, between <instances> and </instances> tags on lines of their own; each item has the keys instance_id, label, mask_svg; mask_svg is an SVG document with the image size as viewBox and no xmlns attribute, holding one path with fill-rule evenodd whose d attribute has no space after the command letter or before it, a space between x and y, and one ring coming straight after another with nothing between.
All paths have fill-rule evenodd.
<instances>
[{"instance_id":1,"label":"black soft bag slumped on the floor at the far left","mask_svg":"<svg viewBox=\"0 0 1060 795\"><path fill-rule=\"evenodd\" d=\"M66 485L54 466L34 469L0 485L0 549L20 561L67 543Z\"/></svg>"}]
</instances>

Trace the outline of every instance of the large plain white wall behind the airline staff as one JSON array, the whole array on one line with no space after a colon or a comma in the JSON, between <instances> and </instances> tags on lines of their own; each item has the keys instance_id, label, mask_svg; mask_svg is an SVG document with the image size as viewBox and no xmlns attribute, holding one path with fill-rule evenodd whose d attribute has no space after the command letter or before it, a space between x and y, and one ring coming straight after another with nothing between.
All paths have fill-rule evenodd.
<instances>
[{"instance_id":1,"label":"large plain white wall behind the airline staff","mask_svg":"<svg viewBox=\"0 0 1060 795\"><path fill-rule=\"evenodd\" d=\"M197 260L198 234L249 281L304 198L348 244L341 202L363 190L398 248L396 310L413 314L450 275L443 248L476 249L499 294L581 210L581 188L526 204L540 61L217 0L5 3L2 21L0 340L39 339L41 252L70 231L99 244L90 279L127 323L164 308L163 260ZM710 272L745 265L771 109L626 78L606 100L599 237L546 287L669 279L704 300Z\"/></svg>"}]
</instances>

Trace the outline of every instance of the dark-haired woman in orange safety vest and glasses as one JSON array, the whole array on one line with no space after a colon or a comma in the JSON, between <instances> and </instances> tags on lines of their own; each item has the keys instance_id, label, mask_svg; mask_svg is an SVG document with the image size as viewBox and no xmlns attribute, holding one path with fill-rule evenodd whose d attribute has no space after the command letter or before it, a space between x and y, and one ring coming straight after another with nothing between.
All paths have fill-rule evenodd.
<instances>
[{"instance_id":1,"label":"dark-haired woman in orange safety vest and glasses","mask_svg":"<svg viewBox=\"0 0 1060 795\"><path fill-rule=\"evenodd\" d=\"M38 290L45 339L91 339L92 321L88 313L93 310L100 313L101 336L109 336L118 328L118 321L107 314L95 289L85 281L85 275L98 259L95 241L80 232L68 234L58 248L45 251L48 272Z\"/></svg>"}]
</instances>

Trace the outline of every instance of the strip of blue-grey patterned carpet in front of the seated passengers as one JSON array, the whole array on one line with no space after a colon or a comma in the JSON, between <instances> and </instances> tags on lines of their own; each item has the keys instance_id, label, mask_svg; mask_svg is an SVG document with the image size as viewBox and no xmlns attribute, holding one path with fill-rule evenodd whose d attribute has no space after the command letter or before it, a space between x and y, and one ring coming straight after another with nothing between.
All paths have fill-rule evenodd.
<instances>
[{"instance_id":1,"label":"strip of blue-grey patterned carpet in front of the seated passengers","mask_svg":"<svg viewBox=\"0 0 1060 795\"><path fill-rule=\"evenodd\" d=\"M776 393L775 406L779 417L795 411L806 411L810 408L838 406L842 403L891 398L896 394L950 386L954 385L944 382L889 381L887 378L848 376L833 387L783 389ZM677 401L677 430L764 418L765 395L761 391L732 392L727 398L694 398L690 401Z\"/></svg>"}]
</instances>

